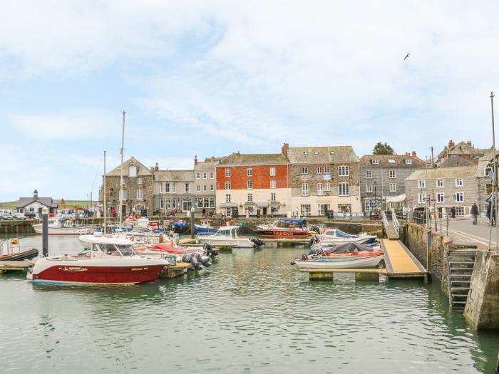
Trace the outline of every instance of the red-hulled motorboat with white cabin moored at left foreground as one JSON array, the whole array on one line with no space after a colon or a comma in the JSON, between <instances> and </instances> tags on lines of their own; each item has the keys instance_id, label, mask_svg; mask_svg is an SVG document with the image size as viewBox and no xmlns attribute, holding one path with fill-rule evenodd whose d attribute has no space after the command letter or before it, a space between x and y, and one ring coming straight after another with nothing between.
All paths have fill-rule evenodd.
<instances>
[{"instance_id":1,"label":"red-hulled motorboat with white cabin moored at left foreground","mask_svg":"<svg viewBox=\"0 0 499 374\"><path fill-rule=\"evenodd\" d=\"M103 236L91 250L38 259L28 278L36 284L140 284L156 281L168 265L138 255L133 241Z\"/></svg>"}]
</instances>

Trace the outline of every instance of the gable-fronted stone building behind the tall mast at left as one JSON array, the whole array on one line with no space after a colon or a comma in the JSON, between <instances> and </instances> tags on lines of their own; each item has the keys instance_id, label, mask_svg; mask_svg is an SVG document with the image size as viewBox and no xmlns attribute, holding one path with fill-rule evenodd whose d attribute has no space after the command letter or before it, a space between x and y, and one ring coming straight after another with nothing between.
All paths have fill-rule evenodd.
<instances>
[{"instance_id":1,"label":"gable-fronted stone building behind the tall mast at left","mask_svg":"<svg viewBox=\"0 0 499 374\"><path fill-rule=\"evenodd\" d=\"M120 170L123 168L123 208L125 215L153 214L153 172L130 157L122 165L106 174L108 214L120 212Z\"/></svg>"}]
</instances>

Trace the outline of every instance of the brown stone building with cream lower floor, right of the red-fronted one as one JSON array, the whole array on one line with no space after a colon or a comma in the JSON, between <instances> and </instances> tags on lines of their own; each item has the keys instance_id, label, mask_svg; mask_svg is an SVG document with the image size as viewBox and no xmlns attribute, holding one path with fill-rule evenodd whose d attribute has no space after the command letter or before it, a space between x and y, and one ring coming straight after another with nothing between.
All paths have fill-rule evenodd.
<instances>
[{"instance_id":1,"label":"brown stone building with cream lower floor, right of the red-fronted one","mask_svg":"<svg viewBox=\"0 0 499 374\"><path fill-rule=\"evenodd\" d=\"M292 212L301 217L361 212L359 158L351 146L282 146L289 159Z\"/></svg>"}]
</instances>

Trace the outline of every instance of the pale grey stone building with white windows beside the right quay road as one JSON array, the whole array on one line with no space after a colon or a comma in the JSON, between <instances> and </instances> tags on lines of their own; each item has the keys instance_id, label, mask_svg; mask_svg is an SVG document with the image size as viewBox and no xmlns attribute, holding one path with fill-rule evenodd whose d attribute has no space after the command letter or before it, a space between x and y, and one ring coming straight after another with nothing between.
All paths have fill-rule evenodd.
<instances>
[{"instance_id":1,"label":"pale grey stone building with white windows beside the right quay road","mask_svg":"<svg viewBox=\"0 0 499 374\"><path fill-rule=\"evenodd\" d=\"M479 204L486 192L480 184L478 166L445 167L417 170L406 179L408 207L428 209L448 214L456 207L456 214L470 214L473 203Z\"/></svg>"}]
</instances>

